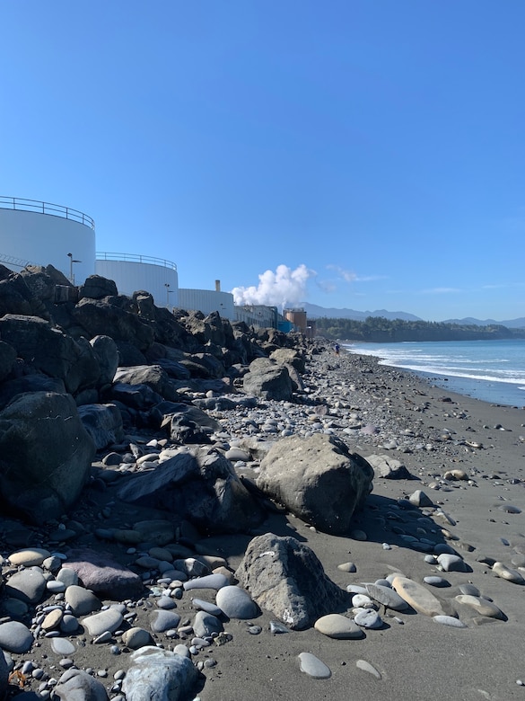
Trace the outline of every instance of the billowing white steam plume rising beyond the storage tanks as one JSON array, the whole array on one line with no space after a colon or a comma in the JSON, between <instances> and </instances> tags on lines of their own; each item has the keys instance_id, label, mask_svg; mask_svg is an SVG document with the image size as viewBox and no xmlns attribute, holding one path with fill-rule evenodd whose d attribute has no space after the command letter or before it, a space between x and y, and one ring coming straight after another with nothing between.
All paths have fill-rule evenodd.
<instances>
[{"instance_id":1,"label":"billowing white steam plume rising beyond the storage tanks","mask_svg":"<svg viewBox=\"0 0 525 701\"><path fill-rule=\"evenodd\" d=\"M233 288L234 304L294 306L306 297L306 282L316 275L301 263L294 271L287 265L277 265L276 271L266 271L258 276L258 287Z\"/></svg>"}]
</instances>

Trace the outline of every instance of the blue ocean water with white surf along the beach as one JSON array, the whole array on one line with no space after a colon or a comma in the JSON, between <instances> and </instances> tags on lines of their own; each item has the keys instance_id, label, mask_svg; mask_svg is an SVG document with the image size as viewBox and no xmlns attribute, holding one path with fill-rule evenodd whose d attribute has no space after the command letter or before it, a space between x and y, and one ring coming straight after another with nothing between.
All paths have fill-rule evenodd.
<instances>
[{"instance_id":1,"label":"blue ocean water with white surf along the beach","mask_svg":"<svg viewBox=\"0 0 525 701\"><path fill-rule=\"evenodd\" d=\"M381 358L431 384L490 404L525 406L525 339L342 344L346 351Z\"/></svg>"}]
</instances>

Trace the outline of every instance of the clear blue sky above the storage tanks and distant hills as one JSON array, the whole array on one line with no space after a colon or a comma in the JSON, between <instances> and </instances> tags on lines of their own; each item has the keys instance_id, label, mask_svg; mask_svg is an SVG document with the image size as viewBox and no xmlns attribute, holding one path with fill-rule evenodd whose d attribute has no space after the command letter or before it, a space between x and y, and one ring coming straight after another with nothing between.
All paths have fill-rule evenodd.
<instances>
[{"instance_id":1,"label":"clear blue sky above the storage tanks and distant hills","mask_svg":"<svg viewBox=\"0 0 525 701\"><path fill-rule=\"evenodd\" d=\"M81 209L180 287L525 315L523 0L1 14L1 195Z\"/></svg>"}]
</instances>

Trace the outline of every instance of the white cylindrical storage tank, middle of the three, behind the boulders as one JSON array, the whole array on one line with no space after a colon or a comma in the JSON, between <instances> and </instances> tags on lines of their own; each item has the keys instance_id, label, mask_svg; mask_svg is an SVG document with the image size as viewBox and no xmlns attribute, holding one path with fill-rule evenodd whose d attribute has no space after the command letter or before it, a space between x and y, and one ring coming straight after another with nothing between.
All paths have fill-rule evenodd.
<instances>
[{"instance_id":1,"label":"white cylindrical storage tank, middle of the three, behind the boulders","mask_svg":"<svg viewBox=\"0 0 525 701\"><path fill-rule=\"evenodd\" d=\"M97 253L97 275L114 280L119 294L144 289L156 306L179 306L179 276L174 262L132 253Z\"/></svg>"}]
</instances>

